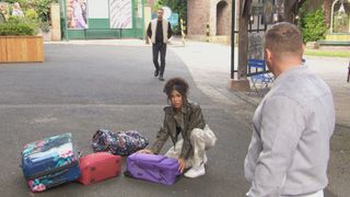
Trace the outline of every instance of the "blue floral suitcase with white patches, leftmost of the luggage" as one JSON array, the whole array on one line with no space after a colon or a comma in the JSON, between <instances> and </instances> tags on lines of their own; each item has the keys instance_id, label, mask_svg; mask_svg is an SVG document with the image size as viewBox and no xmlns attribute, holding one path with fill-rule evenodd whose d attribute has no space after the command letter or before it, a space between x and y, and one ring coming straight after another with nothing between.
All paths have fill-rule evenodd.
<instances>
[{"instance_id":1,"label":"blue floral suitcase with white patches, leftmost of the luggage","mask_svg":"<svg viewBox=\"0 0 350 197\"><path fill-rule=\"evenodd\" d=\"M32 192L43 192L79 178L80 169L71 134L25 144L22 151L22 170Z\"/></svg>"}]
</instances>

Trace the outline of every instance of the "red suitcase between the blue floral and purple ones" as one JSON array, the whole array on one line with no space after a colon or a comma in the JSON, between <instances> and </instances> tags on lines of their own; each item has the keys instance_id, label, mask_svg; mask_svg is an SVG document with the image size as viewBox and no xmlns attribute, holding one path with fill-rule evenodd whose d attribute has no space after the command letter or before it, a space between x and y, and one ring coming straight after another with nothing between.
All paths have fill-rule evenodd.
<instances>
[{"instance_id":1,"label":"red suitcase between the blue floral and purple ones","mask_svg":"<svg viewBox=\"0 0 350 197\"><path fill-rule=\"evenodd\" d=\"M118 176L121 171L121 157L107 152L96 152L79 159L81 177L78 182L89 185Z\"/></svg>"}]
</instances>

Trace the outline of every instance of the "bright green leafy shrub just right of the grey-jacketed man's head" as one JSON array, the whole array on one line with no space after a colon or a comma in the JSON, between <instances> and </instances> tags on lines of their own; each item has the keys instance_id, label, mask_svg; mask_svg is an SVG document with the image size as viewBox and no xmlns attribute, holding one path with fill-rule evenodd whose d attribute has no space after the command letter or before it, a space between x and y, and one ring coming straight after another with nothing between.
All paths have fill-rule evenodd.
<instances>
[{"instance_id":1,"label":"bright green leafy shrub just right of the grey-jacketed man's head","mask_svg":"<svg viewBox=\"0 0 350 197\"><path fill-rule=\"evenodd\" d=\"M316 42L325 38L327 27L324 21L324 12L322 9L314 12L302 13L299 25L303 33L304 43Z\"/></svg>"}]
</instances>

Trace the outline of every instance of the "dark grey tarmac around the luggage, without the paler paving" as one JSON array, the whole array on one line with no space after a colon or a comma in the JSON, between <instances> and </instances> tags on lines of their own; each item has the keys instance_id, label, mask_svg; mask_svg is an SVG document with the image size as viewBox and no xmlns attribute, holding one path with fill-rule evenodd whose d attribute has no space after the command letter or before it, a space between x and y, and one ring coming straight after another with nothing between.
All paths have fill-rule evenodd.
<instances>
[{"instance_id":1,"label":"dark grey tarmac around the luggage, without the paler paving","mask_svg":"<svg viewBox=\"0 0 350 197\"><path fill-rule=\"evenodd\" d=\"M242 169L248 128L196 88L185 63L168 50L165 77L189 81L190 97L201 104L219 139L208 152L207 175L171 187L121 175L91 186L72 183L28 193L19 167L26 142L70 131L79 149L91 152L98 128L136 129L152 141L166 104L164 82L152 77L149 47L45 45L45 51L44 63L0 67L1 196L243 196L247 190Z\"/></svg>"}]
</instances>

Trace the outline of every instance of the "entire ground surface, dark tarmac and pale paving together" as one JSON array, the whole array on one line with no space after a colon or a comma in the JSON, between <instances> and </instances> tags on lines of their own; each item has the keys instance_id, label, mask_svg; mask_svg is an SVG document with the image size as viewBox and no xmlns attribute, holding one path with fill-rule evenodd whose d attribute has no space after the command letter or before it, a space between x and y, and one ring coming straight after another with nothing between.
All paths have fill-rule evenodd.
<instances>
[{"instance_id":1,"label":"entire ground surface, dark tarmac and pale paving together","mask_svg":"<svg viewBox=\"0 0 350 197\"><path fill-rule=\"evenodd\" d=\"M7 158L0 163L3 196L34 196L18 166L21 147L28 141L71 131L79 149L91 152L91 137L98 128L137 129L152 141L161 125L164 83L152 78L151 48L141 40L51 43L45 51L44 63L0 65L0 151ZM337 121L341 120L332 138L326 196L350 193L350 116L346 111L350 85L340 74L348 60L307 57L307 62L323 68L315 72L334 90ZM337 65L337 69L318 73L328 65ZM334 77L327 79L329 73ZM175 76L189 81L191 97L202 105L219 138L208 153L206 176L184 178L171 187L119 176L88 187L73 183L35 196L243 196L248 188L243 160L252 115L260 99L226 90L228 46L188 42L182 47L175 43L167 53L165 78Z\"/></svg>"}]
</instances>

